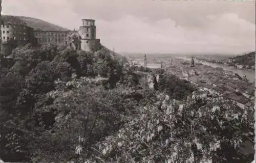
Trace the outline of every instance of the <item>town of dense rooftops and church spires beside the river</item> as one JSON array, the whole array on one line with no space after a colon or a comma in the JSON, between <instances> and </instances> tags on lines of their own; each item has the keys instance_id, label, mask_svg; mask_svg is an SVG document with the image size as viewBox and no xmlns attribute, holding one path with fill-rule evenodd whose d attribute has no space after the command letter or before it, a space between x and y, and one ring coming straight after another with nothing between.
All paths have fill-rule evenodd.
<instances>
[{"instance_id":1,"label":"town of dense rooftops and church spires beside the river","mask_svg":"<svg viewBox=\"0 0 256 163\"><path fill-rule=\"evenodd\" d=\"M142 55L141 55L142 56ZM160 56L157 56L160 58ZM129 59L131 65L145 66L150 68L162 68L169 71L182 79L186 79L197 87L203 88L207 91L215 91L230 99L233 103L239 105L243 109L249 108L254 97L253 82L249 82L246 75L240 76L232 71L224 71L222 68L211 67L196 62L194 58L184 59L179 57L164 58L165 61L159 59L149 62L144 59ZM168 60L166 62L166 60Z\"/></svg>"}]
</instances>

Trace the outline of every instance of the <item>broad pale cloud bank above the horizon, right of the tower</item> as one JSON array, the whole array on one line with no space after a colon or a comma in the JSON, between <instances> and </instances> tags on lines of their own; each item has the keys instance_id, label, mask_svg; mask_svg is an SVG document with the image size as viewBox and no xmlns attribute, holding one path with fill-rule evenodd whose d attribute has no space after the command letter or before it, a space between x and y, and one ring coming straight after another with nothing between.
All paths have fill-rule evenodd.
<instances>
[{"instance_id":1,"label":"broad pale cloud bank above the horizon, right of the tower","mask_svg":"<svg viewBox=\"0 0 256 163\"><path fill-rule=\"evenodd\" d=\"M205 30L177 25L170 18L149 23L132 15L96 24L101 42L119 51L241 52L255 48L253 24L232 13L209 21Z\"/></svg>"}]
</instances>

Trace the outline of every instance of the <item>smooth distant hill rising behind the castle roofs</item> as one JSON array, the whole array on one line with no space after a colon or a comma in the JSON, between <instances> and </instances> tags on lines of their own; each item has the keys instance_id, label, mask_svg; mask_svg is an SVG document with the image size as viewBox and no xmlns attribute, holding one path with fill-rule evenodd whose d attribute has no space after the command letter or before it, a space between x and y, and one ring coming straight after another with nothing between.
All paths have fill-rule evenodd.
<instances>
[{"instance_id":1,"label":"smooth distant hill rising behind the castle roofs","mask_svg":"<svg viewBox=\"0 0 256 163\"><path fill-rule=\"evenodd\" d=\"M27 24L34 30L41 31L70 31L69 29L49 23L47 21L26 16L3 15L3 23Z\"/></svg>"}]
</instances>

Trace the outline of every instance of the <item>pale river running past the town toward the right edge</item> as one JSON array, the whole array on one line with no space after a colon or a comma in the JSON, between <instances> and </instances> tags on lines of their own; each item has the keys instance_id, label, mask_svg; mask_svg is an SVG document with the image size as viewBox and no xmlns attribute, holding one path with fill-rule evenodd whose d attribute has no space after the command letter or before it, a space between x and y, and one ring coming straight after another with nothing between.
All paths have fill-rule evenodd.
<instances>
[{"instance_id":1,"label":"pale river running past the town toward the right edge","mask_svg":"<svg viewBox=\"0 0 256 163\"><path fill-rule=\"evenodd\" d=\"M191 58L186 58L186 57L179 57L179 58L183 59L183 60L186 60L186 61L191 61ZM214 63L210 63L210 62L206 62L206 61L195 60L195 62L196 63L201 63L201 64L206 65L206 66L211 66L211 67L214 67L214 68L221 67L225 71L232 71L233 73L239 74L241 77L243 77L244 74L245 74L246 78L249 80L249 82L254 82L254 80L255 80L255 73L253 71L236 69L236 68L233 68L233 67L228 67L228 66L224 66L224 65L214 64Z\"/></svg>"}]
</instances>

